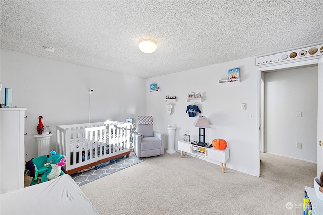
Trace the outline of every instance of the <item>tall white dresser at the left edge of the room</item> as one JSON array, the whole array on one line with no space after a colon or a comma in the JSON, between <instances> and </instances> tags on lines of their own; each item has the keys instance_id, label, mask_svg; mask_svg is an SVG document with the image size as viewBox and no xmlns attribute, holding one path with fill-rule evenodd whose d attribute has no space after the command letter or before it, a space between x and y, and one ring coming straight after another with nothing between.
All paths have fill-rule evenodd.
<instances>
[{"instance_id":1,"label":"tall white dresser at the left edge of the room","mask_svg":"<svg viewBox=\"0 0 323 215\"><path fill-rule=\"evenodd\" d=\"M24 187L25 110L0 108L0 194Z\"/></svg>"}]
</instances>

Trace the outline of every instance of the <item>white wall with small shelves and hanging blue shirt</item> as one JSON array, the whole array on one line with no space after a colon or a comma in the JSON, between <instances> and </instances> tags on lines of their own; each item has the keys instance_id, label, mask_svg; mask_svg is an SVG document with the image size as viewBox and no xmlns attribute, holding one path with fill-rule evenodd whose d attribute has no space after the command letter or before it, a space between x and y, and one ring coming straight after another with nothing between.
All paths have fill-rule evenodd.
<instances>
[{"instance_id":1,"label":"white wall with small shelves and hanging blue shirt","mask_svg":"<svg viewBox=\"0 0 323 215\"><path fill-rule=\"evenodd\" d=\"M218 83L232 68L240 68L241 82ZM160 86L160 92L150 92L151 83ZM197 116L206 116L211 128L205 129L205 140L222 138L230 148L228 168L251 175L258 174L259 156L256 152L257 125L256 118L249 119L249 113L257 112L257 74L255 58L246 58L217 65L182 71L165 76L149 78L146 82L146 114L154 117L156 131L166 134L167 125L176 126L175 142L181 140L186 130L191 140L198 140L199 129L194 127L195 118L185 113L189 92L202 94L203 102L196 103L202 111ZM177 96L178 101L172 103L173 115L166 112L166 96ZM241 110L241 103L246 103L246 110ZM258 146L259 148L259 146ZM258 152L260 153L260 151Z\"/></svg>"}]
</instances>

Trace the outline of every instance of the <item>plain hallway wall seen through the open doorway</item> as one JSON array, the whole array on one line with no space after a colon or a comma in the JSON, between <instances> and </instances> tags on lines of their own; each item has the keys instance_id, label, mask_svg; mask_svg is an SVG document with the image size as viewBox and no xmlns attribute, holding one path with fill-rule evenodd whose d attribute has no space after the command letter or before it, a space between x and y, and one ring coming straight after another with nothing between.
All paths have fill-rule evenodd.
<instances>
[{"instance_id":1,"label":"plain hallway wall seen through the open doorway","mask_svg":"<svg viewBox=\"0 0 323 215\"><path fill-rule=\"evenodd\" d=\"M315 66L264 74L265 152L316 162L317 72Z\"/></svg>"}]
</instances>

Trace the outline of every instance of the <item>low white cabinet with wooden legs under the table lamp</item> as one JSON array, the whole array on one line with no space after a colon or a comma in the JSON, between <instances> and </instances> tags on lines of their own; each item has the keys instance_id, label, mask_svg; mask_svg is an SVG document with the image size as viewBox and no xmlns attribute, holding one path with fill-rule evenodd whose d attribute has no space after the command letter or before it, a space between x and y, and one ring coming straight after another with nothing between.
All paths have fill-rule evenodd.
<instances>
[{"instance_id":1,"label":"low white cabinet with wooden legs under the table lamp","mask_svg":"<svg viewBox=\"0 0 323 215\"><path fill-rule=\"evenodd\" d=\"M199 148L202 150L200 150ZM184 152L184 156L186 153L195 154L196 156L201 156L201 157L205 157L205 158L220 162L222 172L227 170L226 162L227 160L229 160L229 151L230 151L229 148L226 148L225 150L217 150L213 147L212 148L206 148L201 146L194 147L194 145L192 145L189 142L178 141L178 150L181 151L181 158L183 157L183 152Z\"/></svg>"}]
</instances>

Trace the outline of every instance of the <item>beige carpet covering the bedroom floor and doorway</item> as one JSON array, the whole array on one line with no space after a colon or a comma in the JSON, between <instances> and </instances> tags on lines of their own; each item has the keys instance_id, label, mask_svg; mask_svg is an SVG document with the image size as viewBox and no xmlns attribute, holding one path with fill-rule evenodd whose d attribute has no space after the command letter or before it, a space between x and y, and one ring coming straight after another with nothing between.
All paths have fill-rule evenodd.
<instances>
[{"instance_id":1,"label":"beige carpet covering the bedroom floor and doorway","mask_svg":"<svg viewBox=\"0 0 323 215\"><path fill-rule=\"evenodd\" d=\"M100 214L302 214L315 175L316 164L271 154L254 177L165 153L80 188Z\"/></svg>"}]
</instances>

